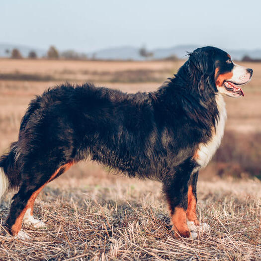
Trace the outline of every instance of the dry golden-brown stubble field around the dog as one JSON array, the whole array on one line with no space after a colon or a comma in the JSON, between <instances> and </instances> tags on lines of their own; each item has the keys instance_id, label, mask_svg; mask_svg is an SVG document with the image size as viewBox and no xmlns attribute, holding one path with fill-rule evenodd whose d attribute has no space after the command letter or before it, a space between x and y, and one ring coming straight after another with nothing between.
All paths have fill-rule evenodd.
<instances>
[{"instance_id":1,"label":"dry golden-brown stubble field around the dog","mask_svg":"<svg viewBox=\"0 0 261 261\"><path fill-rule=\"evenodd\" d=\"M66 81L126 92L155 90L183 61L109 62L0 59L0 154L17 139L29 101ZM6 237L0 205L0 260L261 260L261 64L245 97L226 98L221 148L199 176L198 214L210 230L176 239L156 181L108 174L84 162L48 184L35 215L46 229L31 240Z\"/></svg>"}]
</instances>

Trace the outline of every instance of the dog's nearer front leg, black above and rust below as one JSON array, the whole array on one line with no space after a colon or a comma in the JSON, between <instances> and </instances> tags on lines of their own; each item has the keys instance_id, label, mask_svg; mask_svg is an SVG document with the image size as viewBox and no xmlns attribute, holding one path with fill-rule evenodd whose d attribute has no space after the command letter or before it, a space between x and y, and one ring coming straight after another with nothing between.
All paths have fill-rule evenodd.
<instances>
[{"instance_id":1,"label":"dog's nearer front leg, black above and rust below","mask_svg":"<svg viewBox=\"0 0 261 261\"><path fill-rule=\"evenodd\" d=\"M172 221L172 230L176 236L190 237L186 222L188 180L191 168L189 163L184 163L173 172L169 172L163 179L163 191L169 203Z\"/></svg>"}]
</instances>

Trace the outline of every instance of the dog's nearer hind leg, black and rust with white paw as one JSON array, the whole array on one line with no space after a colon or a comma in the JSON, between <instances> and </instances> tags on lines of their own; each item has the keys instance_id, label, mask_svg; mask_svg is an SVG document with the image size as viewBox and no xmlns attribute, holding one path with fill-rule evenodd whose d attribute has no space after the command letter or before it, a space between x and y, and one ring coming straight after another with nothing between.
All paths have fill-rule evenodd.
<instances>
[{"instance_id":1,"label":"dog's nearer hind leg, black and rust with white paw","mask_svg":"<svg viewBox=\"0 0 261 261\"><path fill-rule=\"evenodd\" d=\"M32 179L30 182L30 178L24 179L22 185L17 194L13 196L13 201L10 207L9 215L6 219L6 227L8 232L12 236L18 236L21 238L29 238L28 235L21 231L22 220L27 213L31 217L33 216L33 205L37 195L43 189L43 187L64 173L67 169L69 169L73 165L73 162L67 163L59 167L52 175L41 175L41 178ZM29 213L28 213L29 212ZM28 216L25 216L27 218ZM37 222L37 221L36 221ZM39 223L39 222L37 222Z\"/></svg>"}]
</instances>

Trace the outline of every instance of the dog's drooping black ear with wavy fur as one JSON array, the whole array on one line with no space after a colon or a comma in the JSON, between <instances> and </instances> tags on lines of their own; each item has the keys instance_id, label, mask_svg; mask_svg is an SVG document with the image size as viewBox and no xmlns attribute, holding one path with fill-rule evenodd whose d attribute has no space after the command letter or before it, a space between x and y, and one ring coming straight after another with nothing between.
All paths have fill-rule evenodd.
<instances>
[{"instance_id":1,"label":"dog's drooping black ear with wavy fur","mask_svg":"<svg viewBox=\"0 0 261 261\"><path fill-rule=\"evenodd\" d=\"M200 48L189 53L188 72L192 78L193 87L197 88L201 93L208 87L215 88L214 50L202 50Z\"/></svg>"}]
</instances>

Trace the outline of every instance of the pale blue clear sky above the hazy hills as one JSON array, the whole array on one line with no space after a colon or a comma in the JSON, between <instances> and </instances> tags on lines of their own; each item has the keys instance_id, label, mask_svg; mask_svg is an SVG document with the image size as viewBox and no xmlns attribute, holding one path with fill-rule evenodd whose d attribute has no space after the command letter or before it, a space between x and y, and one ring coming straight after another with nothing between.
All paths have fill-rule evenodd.
<instances>
[{"instance_id":1,"label":"pale blue clear sky above the hazy hills","mask_svg":"<svg viewBox=\"0 0 261 261\"><path fill-rule=\"evenodd\" d=\"M261 48L260 0L0 0L0 43L90 52Z\"/></svg>"}]
</instances>

